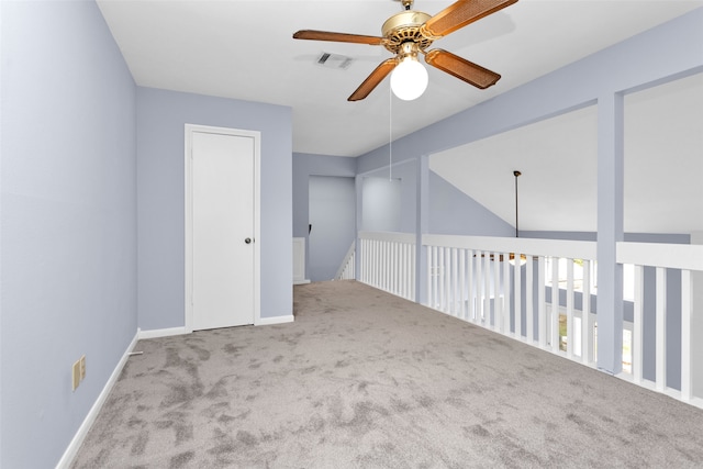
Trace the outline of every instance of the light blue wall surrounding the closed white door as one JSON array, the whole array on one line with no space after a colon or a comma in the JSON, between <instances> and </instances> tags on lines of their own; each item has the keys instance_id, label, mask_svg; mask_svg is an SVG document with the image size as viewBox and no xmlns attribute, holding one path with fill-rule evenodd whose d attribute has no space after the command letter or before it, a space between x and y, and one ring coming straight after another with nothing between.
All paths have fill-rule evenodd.
<instances>
[{"instance_id":1,"label":"light blue wall surrounding the closed white door","mask_svg":"<svg viewBox=\"0 0 703 469\"><path fill-rule=\"evenodd\" d=\"M292 314L290 108L137 89L138 317L185 324L185 124L261 132L261 317Z\"/></svg>"}]
</instances>

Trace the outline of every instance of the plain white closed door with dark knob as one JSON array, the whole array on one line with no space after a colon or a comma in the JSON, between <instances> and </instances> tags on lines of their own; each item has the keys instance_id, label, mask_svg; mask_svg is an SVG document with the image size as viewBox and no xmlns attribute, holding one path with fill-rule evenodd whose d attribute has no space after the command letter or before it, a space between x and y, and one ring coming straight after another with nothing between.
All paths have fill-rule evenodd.
<instances>
[{"instance_id":1,"label":"plain white closed door with dark knob","mask_svg":"<svg viewBox=\"0 0 703 469\"><path fill-rule=\"evenodd\" d=\"M190 129L193 331L255 322L256 147L250 135Z\"/></svg>"}]
</instances>

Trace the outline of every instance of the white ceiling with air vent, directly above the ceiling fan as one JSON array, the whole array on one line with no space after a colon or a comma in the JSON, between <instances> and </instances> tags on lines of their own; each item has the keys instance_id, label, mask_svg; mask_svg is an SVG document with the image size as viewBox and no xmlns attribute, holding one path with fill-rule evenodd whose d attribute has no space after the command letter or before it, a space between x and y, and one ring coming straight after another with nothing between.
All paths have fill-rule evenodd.
<instances>
[{"instance_id":1,"label":"white ceiling with air vent, directly above the ceiling fan","mask_svg":"<svg viewBox=\"0 0 703 469\"><path fill-rule=\"evenodd\" d=\"M416 0L435 14L451 4ZM479 90L433 67L411 102L384 80L367 99L347 97L390 53L360 44L294 41L302 29L380 35L397 0L98 0L137 85L288 105L293 150L359 156L566 64L667 22L699 0L520 0L435 43L496 70ZM323 53L352 58L323 67ZM392 111L391 111L392 109ZM391 122L392 112L392 122ZM334 119L331 119L334 116Z\"/></svg>"}]
</instances>

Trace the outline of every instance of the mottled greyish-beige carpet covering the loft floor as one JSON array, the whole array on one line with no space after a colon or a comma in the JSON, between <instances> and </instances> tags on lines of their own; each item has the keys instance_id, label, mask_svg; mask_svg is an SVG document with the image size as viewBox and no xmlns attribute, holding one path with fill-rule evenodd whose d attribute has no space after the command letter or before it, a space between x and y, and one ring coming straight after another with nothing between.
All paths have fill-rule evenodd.
<instances>
[{"instance_id":1,"label":"mottled greyish-beige carpet covering the loft floor","mask_svg":"<svg viewBox=\"0 0 703 469\"><path fill-rule=\"evenodd\" d=\"M703 467L703 411L355 281L141 340L76 468Z\"/></svg>"}]
</instances>

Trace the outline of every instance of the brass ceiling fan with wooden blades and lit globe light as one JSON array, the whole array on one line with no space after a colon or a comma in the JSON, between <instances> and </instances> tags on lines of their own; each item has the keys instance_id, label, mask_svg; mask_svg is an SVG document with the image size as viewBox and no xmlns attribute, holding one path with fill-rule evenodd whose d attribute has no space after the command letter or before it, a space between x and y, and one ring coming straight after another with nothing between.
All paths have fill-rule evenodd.
<instances>
[{"instance_id":1,"label":"brass ceiling fan with wooden blades and lit globe light","mask_svg":"<svg viewBox=\"0 0 703 469\"><path fill-rule=\"evenodd\" d=\"M501 78L499 74L450 52L440 48L426 49L434 41L517 0L458 0L434 16L412 10L413 0L400 1L403 11L386 20L381 27L382 36L301 30L293 34L293 38L382 45L395 54L393 58L376 67L352 93L348 101L359 101L369 96L391 71L391 88L395 96L405 100L419 98L427 86L427 71L417 62L419 54L423 54L425 62L433 67L480 89L495 85Z\"/></svg>"}]
</instances>

